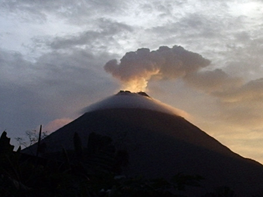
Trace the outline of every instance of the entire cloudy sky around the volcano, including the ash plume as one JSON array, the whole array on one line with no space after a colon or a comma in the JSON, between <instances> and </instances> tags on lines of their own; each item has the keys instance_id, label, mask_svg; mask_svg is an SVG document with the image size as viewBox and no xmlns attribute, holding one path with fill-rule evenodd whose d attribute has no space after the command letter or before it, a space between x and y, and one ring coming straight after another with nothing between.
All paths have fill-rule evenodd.
<instances>
[{"instance_id":1,"label":"entire cloudy sky around the volcano, including the ash plume","mask_svg":"<svg viewBox=\"0 0 263 197\"><path fill-rule=\"evenodd\" d=\"M0 0L0 131L16 145L143 90L263 163L262 13L256 0Z\"/></svg>"}]
</instances>

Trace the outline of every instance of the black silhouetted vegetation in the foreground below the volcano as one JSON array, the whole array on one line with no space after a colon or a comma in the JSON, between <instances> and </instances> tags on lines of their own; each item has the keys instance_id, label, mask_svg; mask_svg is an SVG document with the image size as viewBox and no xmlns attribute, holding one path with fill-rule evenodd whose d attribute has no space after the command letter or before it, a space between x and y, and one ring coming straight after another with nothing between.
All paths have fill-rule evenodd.
<instances>
[{"instance_id":1,"label":"black silhouetted vegetation in the foreground below the volcano","mask_svg":"<svg viewBox=\"0 0 263 197\"><path fill-rule=\"evenodd\" d=\"M62 149L37 157L13 151L4 131L0 138L0 196L186 196L184 191L202 187L198 175L177 174L163 178L125 177L122 168L129 154L117 150L110 137L91 133L82 146L77 133L75 150ZM41 144L44 147L44 144ZM204 197L235 196L228 187L215 189Z\"/></svg>"}]
</instances>

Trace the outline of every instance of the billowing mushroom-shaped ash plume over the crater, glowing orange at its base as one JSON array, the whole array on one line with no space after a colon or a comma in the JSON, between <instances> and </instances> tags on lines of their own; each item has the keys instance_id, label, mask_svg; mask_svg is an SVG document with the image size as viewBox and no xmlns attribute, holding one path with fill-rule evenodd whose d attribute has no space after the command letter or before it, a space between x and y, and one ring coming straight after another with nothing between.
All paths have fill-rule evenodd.
<instances>
[{"instance_id":1,"label":"billowing mushroom-shaped ash plume over the crater, glowing orange at its base","mask_svg":"<svg viewBox=\"0 0 263 197\"><path fill-rule=\"evenodd\" d=\"M161 46L158 50L140 48L126 53L120 62L108 61L104 69L122 83L122 88L133 92L145 91L148 81L177 79L198 72L207 67L210 60L181 46Z\"/></svg>"}]
</instances>

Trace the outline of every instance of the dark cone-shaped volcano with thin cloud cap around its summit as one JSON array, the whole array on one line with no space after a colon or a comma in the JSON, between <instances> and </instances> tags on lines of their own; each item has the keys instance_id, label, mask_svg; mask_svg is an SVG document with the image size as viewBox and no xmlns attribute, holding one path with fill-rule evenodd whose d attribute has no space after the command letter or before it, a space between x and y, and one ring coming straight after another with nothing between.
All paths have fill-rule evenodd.
<instances>
[{"instance_id":1,"label":"dark cone-shaped volcano with thin cloud cap around its summit","mask_svg":"<svg viewBox=\"0 0 263 197\"><path fill-rule=\"evenodd\" d=\"M42 140L46 151L74 149L75 132L85 145L89 134L95 132L127 150L129 164L122 172L126 176L169 179L177 173L200 175L203 187L193 189L190 196L220 186L229 186L238 196L259 195L263 190L263 165L232 152L183 118L186 113L146 93L120 91L84 112ZM24 152L35 152L36 147Z\"/></svg>"}]
</instances>

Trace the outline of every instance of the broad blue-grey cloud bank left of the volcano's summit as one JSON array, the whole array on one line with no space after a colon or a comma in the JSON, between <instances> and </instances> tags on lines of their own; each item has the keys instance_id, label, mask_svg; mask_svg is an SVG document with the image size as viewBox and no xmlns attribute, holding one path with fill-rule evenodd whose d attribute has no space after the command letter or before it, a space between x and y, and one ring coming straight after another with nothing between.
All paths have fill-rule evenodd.
<instances>
[{"instance_id":1,"label":"broad blue-grey cloud bank left of the volcano's summit","mask_svg":"<svg viewBox=\"0 0 263 197\"><path fill-rule=\"evenodd\" d=\"M111 58L87 50L46 53L37 62L14 52L0 53L0 127L22 135L56 118L76 117L78 110L112 94L118 85L99 72ZM16 136L15 136L16 135Z\"/></svg>"}]
</instances>

